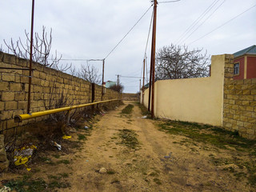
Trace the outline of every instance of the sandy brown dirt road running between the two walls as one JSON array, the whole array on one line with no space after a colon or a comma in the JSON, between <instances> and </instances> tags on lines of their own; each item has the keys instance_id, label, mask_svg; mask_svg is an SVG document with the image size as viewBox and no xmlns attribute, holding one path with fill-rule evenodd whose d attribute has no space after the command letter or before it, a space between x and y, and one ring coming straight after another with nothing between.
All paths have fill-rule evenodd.
<instances>
[{"instance_id":1,"label":"sandy brown dirt road running between the two walls","mask_svg":"<svg viewBox=\"0 0 256 192\"><path fill-rule=\"evenodd\" d=\"M72 187L63 191L249 191L209 161L221 151L178 145L180 137L158 130L132 104L131 115L120 114L121 106L94 125L72 166ZM122 130L134 131L139 146L122 145ZM106 174L98 172L102 167Z\"/></svg>"}]
</instances>

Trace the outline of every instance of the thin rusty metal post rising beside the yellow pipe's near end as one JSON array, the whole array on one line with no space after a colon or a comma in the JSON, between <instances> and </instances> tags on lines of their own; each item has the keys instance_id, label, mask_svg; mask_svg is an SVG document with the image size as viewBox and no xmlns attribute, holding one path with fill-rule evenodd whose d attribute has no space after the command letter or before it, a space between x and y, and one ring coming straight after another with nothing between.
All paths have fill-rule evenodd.
<instances>
[{"instance_id":1,"label":"thin rusty metal post rising beside the yellow pipe's near end","mask_svg":"<svg viewBox=\"0 0 256 192\"><path fill-rule=\"evenodd\" d=\"M32 82L32 54L33 54L33 33L34 33L34 0L32 0L31 14L31 32L30 32L30 74L29 74L29 93L27 98L27 114L30 114L30 97L31 97L31 82Z\"/></svg>"}]
</instances>

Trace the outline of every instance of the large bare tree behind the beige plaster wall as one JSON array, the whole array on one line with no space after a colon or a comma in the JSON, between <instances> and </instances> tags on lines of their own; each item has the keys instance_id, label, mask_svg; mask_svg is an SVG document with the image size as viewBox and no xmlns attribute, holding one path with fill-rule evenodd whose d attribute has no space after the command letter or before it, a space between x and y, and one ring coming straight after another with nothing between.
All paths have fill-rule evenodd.
<instances>
[{"instance_id":1,"label":"large bare tree behind the beige plaster wall","mask_svg":"<svg viewBox=\"0 0 256 192\"><path fill-rule=\"evenodd\" d=\"M156 79L206 77L210 56L201 52L187 46L163 46L157 53Z\"/></svg>"}]
</instances>

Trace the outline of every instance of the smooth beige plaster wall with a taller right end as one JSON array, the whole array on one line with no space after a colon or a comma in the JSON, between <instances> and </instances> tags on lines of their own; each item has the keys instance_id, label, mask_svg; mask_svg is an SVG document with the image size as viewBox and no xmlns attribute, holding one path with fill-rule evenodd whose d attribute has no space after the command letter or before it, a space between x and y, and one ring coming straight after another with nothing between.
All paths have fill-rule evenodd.
<instances>
[{"instance_id":1,"label":"smooth beige plaster wall with a taller right end","mask_svg":"<svg viewBox=\"0 0 256 192\"><path fill-rule=\"evenodd\" d=\"M222 126L226 55L211 58L209 78L162 80L155 83L154 114L158 118ZM148 106L145 91L144 105Z\"/></svg>"}]
</instances>

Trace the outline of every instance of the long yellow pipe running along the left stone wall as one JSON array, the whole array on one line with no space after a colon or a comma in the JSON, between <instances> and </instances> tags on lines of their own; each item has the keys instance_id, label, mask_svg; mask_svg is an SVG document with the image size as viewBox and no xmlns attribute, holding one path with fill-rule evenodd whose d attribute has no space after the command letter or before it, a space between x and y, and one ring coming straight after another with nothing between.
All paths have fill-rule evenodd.
<instances>
[{"instance_id":1,"label":"long yellow pipe running along the left stone wall","mask_svg":"<svg viewBox=\"0 0 256 192\"><path fill-rule=\"evenodd\" d=\"M78 109L78 108L82 108L82 107L86 107L86 106L93 106L93 105L96 105L99 103L114 102L114 101L119 101L119 100L120 99L110 99L110 100L101 101L101 102L90 102L90 103L86 103L86 104L82 104L82 105L78 105L78 106L66 106L66 107L62 107L62 108L58 108L58 109L54 109L54 110L38 111L38 112L34 112L32 114L18 114L18 115L15 115L14 122L22 122L22 121L30 119L30 118L38 118L38 117L42 117L47 114L56 114L58 112L62 112L62 111L66 111L66 110L74 110L74 109Z\"/></svg>"}]
</instances>

